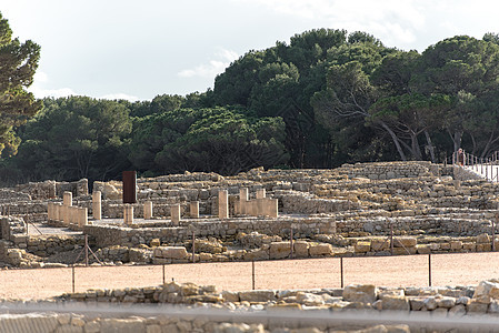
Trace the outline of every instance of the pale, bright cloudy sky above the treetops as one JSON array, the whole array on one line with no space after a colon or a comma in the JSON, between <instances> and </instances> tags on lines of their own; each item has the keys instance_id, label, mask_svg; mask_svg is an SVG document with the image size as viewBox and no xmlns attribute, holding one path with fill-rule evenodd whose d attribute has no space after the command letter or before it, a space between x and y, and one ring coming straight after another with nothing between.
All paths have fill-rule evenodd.
<instances>
[{"instance_id":1,"label":"pale, bright cloudy sky above the treetops","mask_svg":"<svg viewBox=\"0 0 499 333\"><path fill-rule=\"evenodd\" d=\"M482 0L0 0L0 12L14 37L41 46L38 98L202 92L247 51L317 28L420 52L499 32L499 1Z\"/></svg>"}]
</instances>

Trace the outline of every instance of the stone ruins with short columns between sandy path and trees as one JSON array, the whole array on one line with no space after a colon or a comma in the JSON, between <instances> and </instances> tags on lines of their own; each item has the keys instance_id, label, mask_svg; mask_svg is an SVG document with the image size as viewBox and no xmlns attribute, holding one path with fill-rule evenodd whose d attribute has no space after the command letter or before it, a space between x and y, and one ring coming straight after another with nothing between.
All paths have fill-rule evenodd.
<instances>
[{"instance_id":1,"label":"stone ruins with short columns between sandy path and trees","mask_svg":"<svg viewBox=\"0 0 499 333\"><path fill-rule=\"evenodd\" d=\"M136 204L122 203L117 181L91 194L87 180L29 183L0 189L0 262L42 266L83 234L108 264L491 251L499 185L470 178L429 162L186 172L138 179ZM48 241L36 225L61 233ZM224 251L204 251L212 240Z\"/></svg>"}]
</instances>

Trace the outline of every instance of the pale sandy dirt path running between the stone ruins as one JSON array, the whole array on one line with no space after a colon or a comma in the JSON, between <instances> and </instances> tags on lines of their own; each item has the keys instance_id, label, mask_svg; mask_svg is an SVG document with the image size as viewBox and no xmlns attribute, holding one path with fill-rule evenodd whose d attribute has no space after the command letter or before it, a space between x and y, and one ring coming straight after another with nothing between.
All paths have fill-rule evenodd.
<instances>
[{"instance_id":1,"label":"pale sandy dirt path running between the stone ruins","mask_svg":"<svg viewBox=\"0 0 499 333\"><path fill-rule=\"evenodd\" d=\"M378 286L427 286L429 256L345 258L343 282ZM1 270L1 299L44 299L72 291L72 269ZM476 285L499 278L499 252L432 254L431 283ZM251 262L164 265L164 281L214 284L219 290L252 287ZM74 268L74 291L153 286L163 282L162 265ZM256 289L312 289L341 285L340 259L255 262Z\"/></svg>"}]
</instances>

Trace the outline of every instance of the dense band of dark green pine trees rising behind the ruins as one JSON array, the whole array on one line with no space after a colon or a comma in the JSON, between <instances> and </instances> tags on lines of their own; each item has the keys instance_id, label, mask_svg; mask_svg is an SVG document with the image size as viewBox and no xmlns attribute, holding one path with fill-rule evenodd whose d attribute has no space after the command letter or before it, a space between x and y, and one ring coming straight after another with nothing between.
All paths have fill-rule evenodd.
<instances>
[{"instance_id":1,"label":"dense band of dark green pine trees rising behind the ruins","mask_svg":"<svg viewBox=\"0 0 499 333\"><path fill-rule=\"evenodd\" d=\"M2 154L4 181L439 162L459 147L487 157L499 149L499 37L418 53L319 29L249 51L202 93L42 103L17 128L18 153Z\"/></svg>"}]
</instances>

